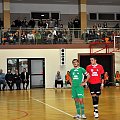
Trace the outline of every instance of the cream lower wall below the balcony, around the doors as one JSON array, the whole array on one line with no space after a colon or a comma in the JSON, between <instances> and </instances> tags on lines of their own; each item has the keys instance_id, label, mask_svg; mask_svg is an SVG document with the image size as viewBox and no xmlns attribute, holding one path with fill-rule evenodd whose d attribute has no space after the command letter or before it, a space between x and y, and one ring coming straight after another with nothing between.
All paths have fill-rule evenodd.
<instances>
[{"instance_id":1,"label":"cream lower wall below the balcony, around the doors","mask_svg":"<svg viewBox=\"0 0 120 120\"><path fill-rule=\"evenodd\" d=\"M60 49L1 49L0 68L6 73L7 58L45 58L45 87L53 88L56 72L60 70L64 78L66 71L73 67L71 61L78 58L78 53L89 53L89 49L66 49L67 64L60 67ZM115 54L115 62L115 70L120 71L120 53Z\"/></svg>"}]
</instances>

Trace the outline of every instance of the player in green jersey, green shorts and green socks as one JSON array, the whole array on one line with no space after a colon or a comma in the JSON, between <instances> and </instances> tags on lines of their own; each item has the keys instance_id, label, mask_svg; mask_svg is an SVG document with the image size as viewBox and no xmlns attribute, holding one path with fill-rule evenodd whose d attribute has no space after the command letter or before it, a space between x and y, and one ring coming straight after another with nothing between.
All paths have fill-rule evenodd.
<instances>
[{"instance_id":1,"label":"player in green jersey, green shorts and green socks","mask_svg":"<svg viewBox=\"0 0 120 120\"><path fill-rule=\"evenodd\" d=\"M72 84L72 98L75 100L77 115L74 118L86 119L84 113L84 87L81 85L84 80L84 75L89 79L89 74L86 70L79 66L78 59L73 59L72 64L74 68L70 70L71 84Z\"/></svg>"}]
</instances>

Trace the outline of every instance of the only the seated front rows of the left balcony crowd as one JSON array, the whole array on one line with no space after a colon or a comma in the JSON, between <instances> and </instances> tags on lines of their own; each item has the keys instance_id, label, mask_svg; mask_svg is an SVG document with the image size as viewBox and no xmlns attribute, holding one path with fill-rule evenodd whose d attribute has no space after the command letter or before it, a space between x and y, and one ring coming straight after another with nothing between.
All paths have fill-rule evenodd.
<instances>
[{"instance_id":1,"label":"only the seated front rows of the left balcony crowd","mask_svg":"<svg viewBox=\"0 0 120 120\"><path fill-rule=\"evenodd\" d=\"M68 44L72 43L72 35L66 29L8 29L2 32L2 44Z\"/></svg>"}]
</instances>

